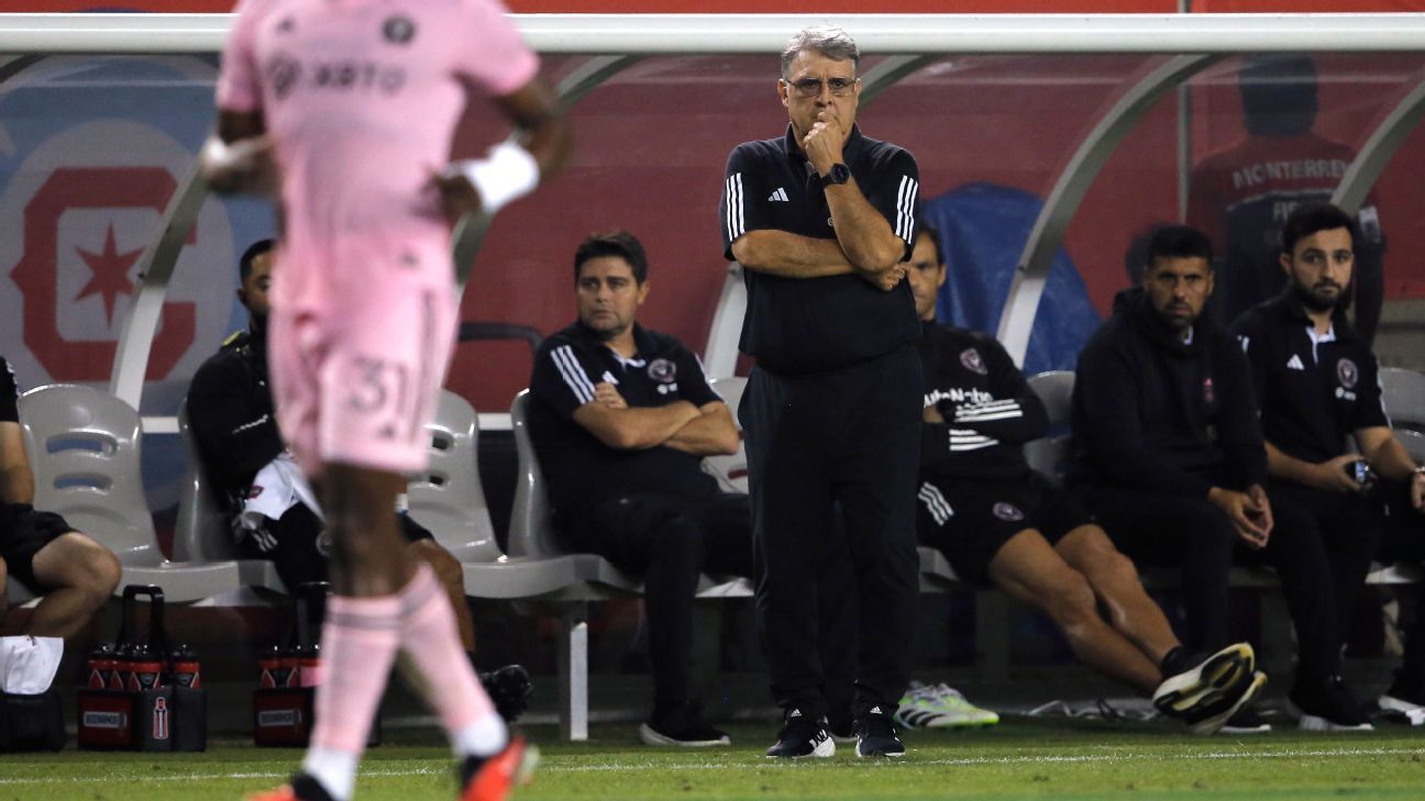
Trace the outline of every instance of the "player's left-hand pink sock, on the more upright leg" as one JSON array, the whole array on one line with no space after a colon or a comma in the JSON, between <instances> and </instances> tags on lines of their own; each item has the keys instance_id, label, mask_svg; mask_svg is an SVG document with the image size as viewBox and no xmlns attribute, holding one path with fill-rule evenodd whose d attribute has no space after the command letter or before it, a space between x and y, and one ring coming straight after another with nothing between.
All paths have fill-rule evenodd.
<instances>
[{"instance_id":1,"label":"player's left-hand pink sock, on the more upright leg","mask_svg":"<svg viewBox=\"0 0 1425 801\"><path fill-rule=\"evenodd\" d=\"M312 748L361 755L400 647L400 597L332 596L322 624Z\"/></svg>"}]
</instances>

